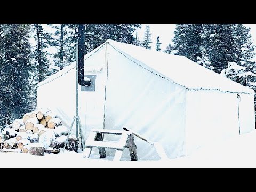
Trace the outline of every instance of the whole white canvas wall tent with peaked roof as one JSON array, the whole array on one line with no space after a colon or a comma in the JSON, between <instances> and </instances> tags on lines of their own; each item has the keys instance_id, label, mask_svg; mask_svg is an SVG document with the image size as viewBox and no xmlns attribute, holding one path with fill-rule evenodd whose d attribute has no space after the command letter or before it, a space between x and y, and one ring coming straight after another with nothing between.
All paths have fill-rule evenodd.
<instances>
[{"instance_id":1,"label":"whole white canvas wall tent with peaked roof","mask_svg":"<svg viewBox=\"0 0 256 192\"><path fill-rule=\"evenodd\" d=\"M108 40L85 55L85 76L95 79L92 87L79 85L85 140L92 128L127 127L176 158L255 129L254 91L186 57ZM70 126L75 87L73 63L38 84L37 108L56 111ZM135 142L139 159L159 158L153 146Z\"/></svg>"}]
</instances>

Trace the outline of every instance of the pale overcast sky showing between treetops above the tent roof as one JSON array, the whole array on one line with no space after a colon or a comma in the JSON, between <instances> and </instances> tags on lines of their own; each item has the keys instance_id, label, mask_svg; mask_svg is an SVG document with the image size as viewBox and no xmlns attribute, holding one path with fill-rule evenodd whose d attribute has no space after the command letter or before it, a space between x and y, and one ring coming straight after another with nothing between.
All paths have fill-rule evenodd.
<instances>
[{"instance_id":1,"label":"pale overcast sky showing between treetops above the tent roof","mask_svg":"<svg viewBox=\"0 0 256 192\"><path fill-rule=\"evenodd\" d=\"M142 24L141 29L138 29L138 37L141 40L143 39L146 25L149 25L150 32L152 34L151 38L153 43L151 43L151 48L155 49L156 38L157 36L159 36L160 42L162 43L161 49L162 51L164 51L167 45L172 42L172 39L174 37L175 24ZM256 24L245 24L245 26L251 28L251 35L255 44Z\"/></svg>"}]
</instances>

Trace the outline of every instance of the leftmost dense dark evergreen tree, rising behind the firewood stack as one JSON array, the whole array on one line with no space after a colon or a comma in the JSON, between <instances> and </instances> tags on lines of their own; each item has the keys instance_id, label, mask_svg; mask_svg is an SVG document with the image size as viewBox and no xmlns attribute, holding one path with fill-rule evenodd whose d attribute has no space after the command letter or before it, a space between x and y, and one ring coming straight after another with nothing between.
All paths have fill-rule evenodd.
<instances>
[{"instance_id":1,"label":"leftmost dense dark evergreen tree, rising behind the firewood stack","mask_svg":"<svg viewBox=\"0 0 256 192\"><path fill-rule=\"evenodd\" d=\"M33 66L27 24L0 25L0 125L30 110L30 81Z\"/></svg>"}]
</instances>

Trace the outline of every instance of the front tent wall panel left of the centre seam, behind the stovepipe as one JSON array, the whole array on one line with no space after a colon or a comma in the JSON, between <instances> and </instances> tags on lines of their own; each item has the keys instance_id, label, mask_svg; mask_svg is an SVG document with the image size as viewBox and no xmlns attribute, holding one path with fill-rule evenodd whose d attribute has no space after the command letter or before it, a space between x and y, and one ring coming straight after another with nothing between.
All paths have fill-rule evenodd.
<instances>
[{"instance_id":1,"label":"front tent wall panel left of the centre seam, behind the stovepipe","mask_svg":"<svg viewBox=\"0 0 256 192\"><path fill-rule=\"evenodd\" d=\"M85 139L87 139L90 129L103 128L106 84L104 47L95 52L94 55L95 57L89 57L85 60L85 75L97 76L95 91L81 91L81 86L78 85L79 117ZM58 114L63 125L70 127L72 119L76 115L76 67L38 87L37 109L46 107ZM75 135L75 133L76 125L74 124L71 134Z\"/></svg>"}]
</instances>

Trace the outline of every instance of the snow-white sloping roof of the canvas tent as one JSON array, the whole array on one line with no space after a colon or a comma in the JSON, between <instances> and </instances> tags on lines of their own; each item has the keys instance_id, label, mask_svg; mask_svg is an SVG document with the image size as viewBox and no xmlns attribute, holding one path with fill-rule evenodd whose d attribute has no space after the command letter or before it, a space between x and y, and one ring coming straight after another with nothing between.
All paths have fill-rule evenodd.
<instances>
[{"instance_id":1,"label":"snow-white sloping roof of the canvas tent","mask_svg":"<svg viewBox=\"0 0 256 192\"><path fill-rule=\"evenodd\" d=\"M189 90L210 89L222 92L244 92L254 94L254 90L231 81L184 56L148 50L140 46L119 43L110 39L86 54L85 60L101 49L106 43L119 53L123 54L124 58L126 57L146 70L151 71L156 75L160 75L165 79L169 79ZM38 83L37 86L53 81L55 78L58 78L75 67L76 62L62 69L57 74Z\"/></svg>"}]
</instances>

